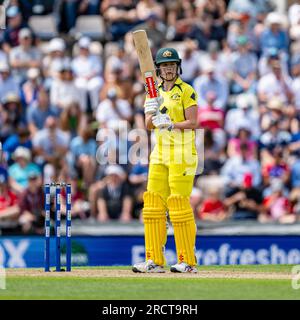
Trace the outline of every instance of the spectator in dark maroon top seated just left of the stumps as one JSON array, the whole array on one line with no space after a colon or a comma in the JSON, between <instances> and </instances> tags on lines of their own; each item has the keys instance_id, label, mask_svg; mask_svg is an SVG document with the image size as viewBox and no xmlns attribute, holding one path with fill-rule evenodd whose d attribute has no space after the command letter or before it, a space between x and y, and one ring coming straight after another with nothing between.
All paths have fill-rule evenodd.
<instances>
[{"instance_id":1,"label":"spectator in dark maroon top seated just left of the stumps","mask_svg":"<svg viewBox=\"0 0 300 320\"><path fill-rule=\"evenodd\" d=\"M31 172L28 175L28 186L20 197L20 218L22 232L43 234L45 223L44 190L41 175Z\"/></svg>"}]
</instances>

